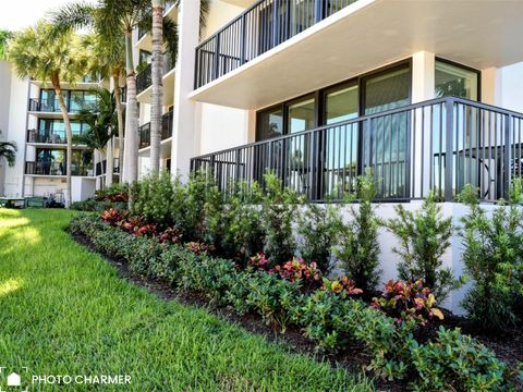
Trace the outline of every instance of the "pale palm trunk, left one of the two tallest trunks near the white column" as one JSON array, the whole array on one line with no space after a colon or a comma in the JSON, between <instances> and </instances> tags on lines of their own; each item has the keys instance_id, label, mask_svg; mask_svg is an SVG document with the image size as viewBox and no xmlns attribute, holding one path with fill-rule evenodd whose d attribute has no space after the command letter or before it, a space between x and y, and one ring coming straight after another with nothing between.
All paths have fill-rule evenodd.
<instances>
[{"instance_id":1,"label":"pale palm trunk, left one of the two tallest trunks near the white column","mask_svg":"<svg viewBox=\"0 0 523 392\"><path fill-rule=\"evenodd\" d=\"M125 71L127 78L127 110L125 118L125 145L123 182L132 184L138 179L138 103L136 101L136 73L133 62L132 32L125 34ZM132 204L132 201L131 201Z\"/></svg>"}]
</instances>

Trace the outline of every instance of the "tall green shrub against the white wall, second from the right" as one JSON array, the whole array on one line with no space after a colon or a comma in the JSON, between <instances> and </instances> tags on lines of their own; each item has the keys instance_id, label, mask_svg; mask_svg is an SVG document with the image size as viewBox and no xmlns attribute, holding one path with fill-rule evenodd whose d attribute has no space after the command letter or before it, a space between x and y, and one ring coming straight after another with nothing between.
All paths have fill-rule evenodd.
<instances>
[{"instance_id":1,"label":"tall green shrub against the white wall, second from the right","mask_svg":"<svg viewBox=\"0 0 523 392\"><path fill-rule=\"evenodd\" d=\"M442 218L434 194L425 198L421 211L413 213L402 205L394 210L398 218L386 221L385 225L400 241L400 247L392 249L402 258L398 265L400 279L423 280L442 302L453 286L452 270L441 268L441 257L452 236L452 218Z\"/></svg>"}]
</instances>

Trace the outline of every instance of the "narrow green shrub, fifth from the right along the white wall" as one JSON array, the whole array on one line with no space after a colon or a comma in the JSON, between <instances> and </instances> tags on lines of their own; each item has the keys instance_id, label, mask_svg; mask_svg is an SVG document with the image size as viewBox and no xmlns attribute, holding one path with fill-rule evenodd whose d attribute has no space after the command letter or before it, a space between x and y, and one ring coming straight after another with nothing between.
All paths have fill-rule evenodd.
<instances>
[{"instance_id":1,"label":"narrow green shrub, fifth from the right along the white wall","mask_svg":"<svg viewBox=\"0 0 523 392\"><path fill-rule=\"evenodd\" d=\"M260 225L265 232L264 253L271 267L282 265L294 257L296 243L292 222L296 217L299 196L283 187L272 173L264 175L265 194L262 204Z\"/></svg>"}]
</instances>

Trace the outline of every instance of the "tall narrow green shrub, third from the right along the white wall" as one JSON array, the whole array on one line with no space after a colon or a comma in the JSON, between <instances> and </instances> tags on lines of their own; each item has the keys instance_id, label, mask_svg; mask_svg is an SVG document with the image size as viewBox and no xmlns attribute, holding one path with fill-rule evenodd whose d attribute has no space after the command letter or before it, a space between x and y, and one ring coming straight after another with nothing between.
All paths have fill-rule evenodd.
<instances>
[{"instance_id":1,"label":"tall narrow green shrub, third from the right along the white wall","mask_svg":"<svg viewBox=\"0 0 523 392\"><path fill-rule=\"evenodd\" d=\"M376 191L370 171L357 179L356 188L358 207L351 206L351 222L340 219L336 223L338 238L333 252L349 278L364 292L372 292L379 281L379 225L372 205Z\"/></svg>"}]
</instances>

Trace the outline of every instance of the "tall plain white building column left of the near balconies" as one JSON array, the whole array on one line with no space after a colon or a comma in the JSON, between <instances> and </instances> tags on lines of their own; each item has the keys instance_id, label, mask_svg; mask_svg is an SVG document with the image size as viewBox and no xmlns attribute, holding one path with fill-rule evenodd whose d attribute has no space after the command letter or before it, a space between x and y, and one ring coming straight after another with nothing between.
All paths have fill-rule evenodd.
<instances>
[{"instance_id":1,"label":"tall plain white building column left of the near balconies","mask_svg":"<svg viewBox=\"0 0 523 392\"><path fill-rule=\"evenodd\" d=\"M174 75L174 113L172 126L172 174L186 176L191 158L199 151L196 102L188 99L194 87L195 48L199 41L199 0L181 0L178 14L178 61Z\"/></svg>"}]
</instances>

